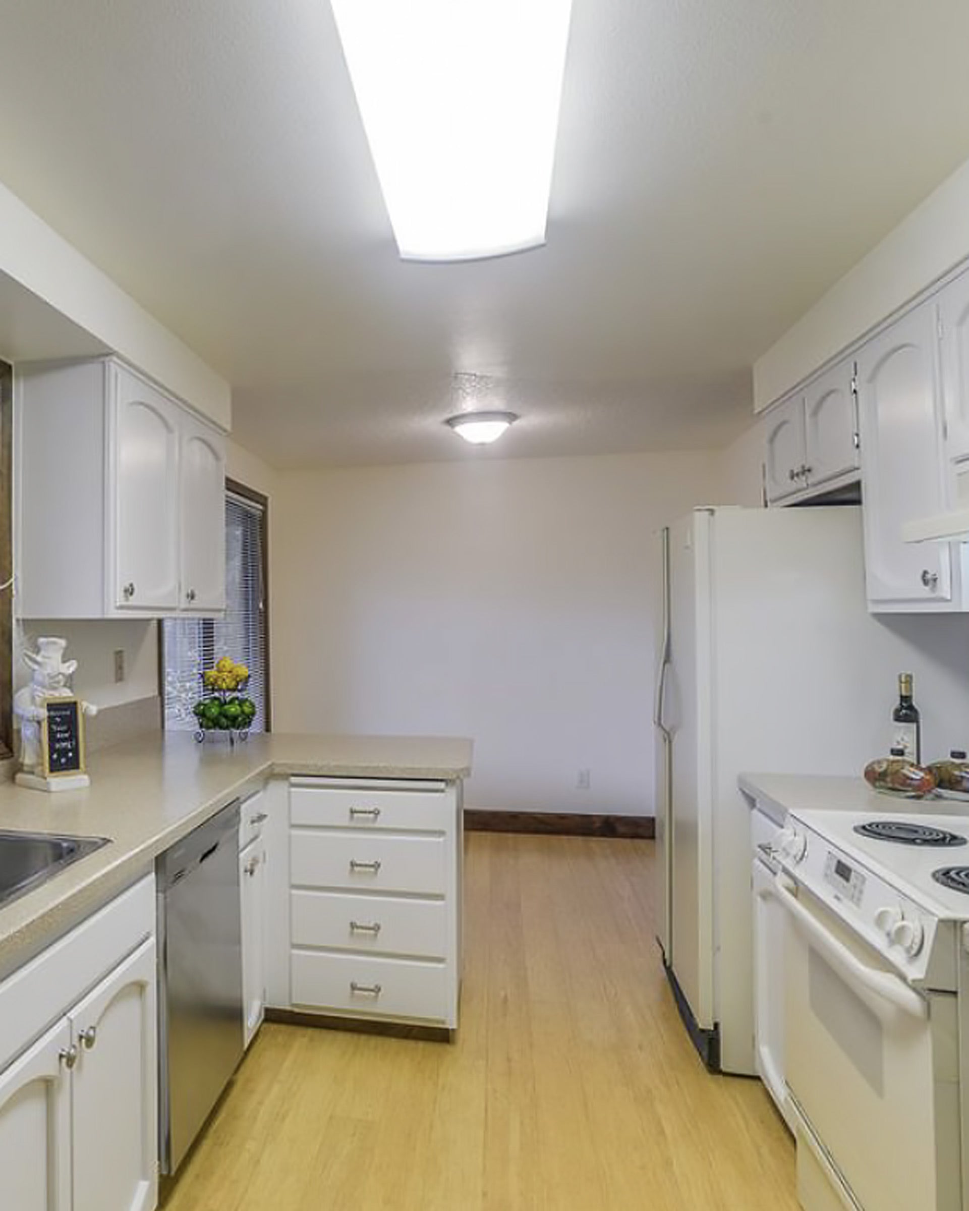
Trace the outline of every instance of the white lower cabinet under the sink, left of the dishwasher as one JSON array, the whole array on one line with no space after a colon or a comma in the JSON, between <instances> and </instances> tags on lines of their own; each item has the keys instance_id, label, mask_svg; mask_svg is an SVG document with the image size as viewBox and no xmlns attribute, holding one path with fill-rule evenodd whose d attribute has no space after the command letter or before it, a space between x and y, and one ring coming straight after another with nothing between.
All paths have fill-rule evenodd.
<instances>
[{"instance_id":1,"label":"white lower cabinet under the sink, left of the dishwasher","mask_svg":"<svg viewBox=\"0 0 969 1211\"><path fill-rule=\"evenodd\" d=\"M154 901L149 877L0 983L5 1211L156 1205Z\"/></svg>"}]
</instances>

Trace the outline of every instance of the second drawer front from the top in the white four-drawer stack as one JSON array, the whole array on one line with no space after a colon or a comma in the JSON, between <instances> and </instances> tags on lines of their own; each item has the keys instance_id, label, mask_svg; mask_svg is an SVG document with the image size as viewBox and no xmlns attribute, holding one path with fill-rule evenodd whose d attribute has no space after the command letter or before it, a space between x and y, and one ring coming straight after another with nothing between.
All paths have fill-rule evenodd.
<instances>
[{"instance_id":1,"label":"second drawer front from the top in the white four-drawer stack","mask_svg":"<svg viewBox=\"0 0 969 1211\"><path fill-rule=\"evenodd\" d=\"M294 828L289 834L289 879L294 888L445 895L447 844L443 837Z\"/></svg>"}]
</instances>

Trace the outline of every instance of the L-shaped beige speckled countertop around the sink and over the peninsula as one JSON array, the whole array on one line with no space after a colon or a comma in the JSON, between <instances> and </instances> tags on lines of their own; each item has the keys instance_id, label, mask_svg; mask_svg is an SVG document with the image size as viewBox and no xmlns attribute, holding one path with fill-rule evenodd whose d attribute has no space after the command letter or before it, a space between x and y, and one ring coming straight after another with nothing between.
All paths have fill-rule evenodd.
<instances>
[{"instance_id":1,"label":"L-shaped beige speckled countertop around the sink and over the peninsula","mask_svg":"<svg viewBox=\"0 0 969 1211\"><path fill-rule=\"evenodd\" d=\"M88 759L91 786L48 794L0 785L0 828L109 837L110 845L0 908L0 976L8 974L239 794L274 775L443 779L471 773L470 740L276 733L196 744L155 733Z\"/></svg>"}]
</instances>

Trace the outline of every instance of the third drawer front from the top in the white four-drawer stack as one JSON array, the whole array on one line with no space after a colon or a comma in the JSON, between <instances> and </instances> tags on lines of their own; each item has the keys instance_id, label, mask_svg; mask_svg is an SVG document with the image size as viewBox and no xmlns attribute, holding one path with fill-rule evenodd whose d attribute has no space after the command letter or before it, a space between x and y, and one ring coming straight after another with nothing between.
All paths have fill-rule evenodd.
<instances>
[{"instance_id":1,"label":"third drawer front from the top in the white four-drawer stack","mask_svg":"<svg viewBox=\"0 0 969 1211\"><path fill-rule=\"evenodd\" d=\"M434 959L448 953L443 900L348 896L336 891L293 891L289 900L293 946Z\"/></svg>"}]
</instances>

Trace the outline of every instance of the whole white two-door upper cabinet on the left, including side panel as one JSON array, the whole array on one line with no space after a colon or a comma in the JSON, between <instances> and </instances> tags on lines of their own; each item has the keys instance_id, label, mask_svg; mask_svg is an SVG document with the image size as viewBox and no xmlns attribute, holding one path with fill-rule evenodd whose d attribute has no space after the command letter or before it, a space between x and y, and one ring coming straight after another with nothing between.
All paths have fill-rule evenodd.
<instances>
[{"instance_id":1,"label":"whole white two-door upper cabinet on the left, including side panel","mask_svg":"<svg viewBox=\"0 0 969 1211\"><path fill-rule=\"evenodd\" d=\"M225 437L115 358L17 367L22 618L225 606Z\"/></svg>"}]
</instances>

